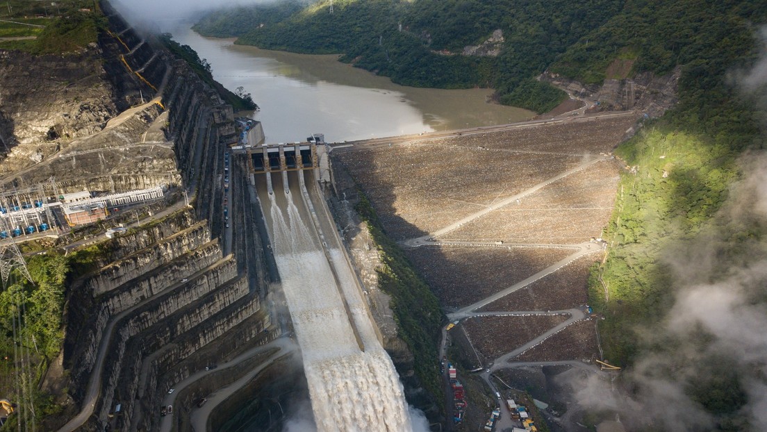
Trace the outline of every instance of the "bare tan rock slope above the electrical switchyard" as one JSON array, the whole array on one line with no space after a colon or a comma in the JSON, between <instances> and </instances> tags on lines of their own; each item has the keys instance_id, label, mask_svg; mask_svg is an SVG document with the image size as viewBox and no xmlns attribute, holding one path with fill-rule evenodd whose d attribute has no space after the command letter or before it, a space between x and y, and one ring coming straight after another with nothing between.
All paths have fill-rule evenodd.
<instances>
[{"instance_id":1,"label":"bare tan rock slope above the electrical switchyard","mask_svg":"<svg viewBox=\"0 0 767 432\"><path fill-rule=\"evenodd\" d=\"M168 55L133 30L104 31L75 54L0 51L0 184L54 180L58 193L178 185L167 114L153 100Z\"/></svg>"}]
</instances>

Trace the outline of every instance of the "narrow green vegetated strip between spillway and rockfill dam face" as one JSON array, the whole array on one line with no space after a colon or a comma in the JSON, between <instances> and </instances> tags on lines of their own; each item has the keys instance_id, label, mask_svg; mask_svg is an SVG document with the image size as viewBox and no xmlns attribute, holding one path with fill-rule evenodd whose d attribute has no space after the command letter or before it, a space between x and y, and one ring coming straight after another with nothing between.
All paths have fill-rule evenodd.
<instances>
[{"instance_id":1,"label":"narrow green vegetated strip between spillway and rockfill dam face","mask_svg":"<svg viewBox=\"0 0 767 432\"><path fill-rule=\"evenodd\" d=\"M442 310L436 296L413 268L397 242L381 228L373 206L360 190L357 213L367 223L370 236L378 247L381 268L378 272L379 288L391 295L390 306L397 322L398 335L410 348L415 362L416 377L436 400L441 395L437 341L443 321Z\"/></svg>"}]
</instances>

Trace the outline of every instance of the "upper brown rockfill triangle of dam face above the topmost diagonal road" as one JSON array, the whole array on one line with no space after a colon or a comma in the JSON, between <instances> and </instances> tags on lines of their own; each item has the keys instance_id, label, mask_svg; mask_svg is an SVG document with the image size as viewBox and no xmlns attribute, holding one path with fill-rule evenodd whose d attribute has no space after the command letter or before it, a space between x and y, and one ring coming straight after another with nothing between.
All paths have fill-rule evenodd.
<instances>
[{"instance_id":1,"label":"upper brown rockfill triangle of dam face above the topmost diagonal road","mask_svg":"<svg viewBox=\"0 0 767 432\"><path fill-rule=\"evenodd\" d=\"M433 143L360 148L338 158L397 240L448 226L581 162L581 157Z\"/></svg>"}]
</instances>

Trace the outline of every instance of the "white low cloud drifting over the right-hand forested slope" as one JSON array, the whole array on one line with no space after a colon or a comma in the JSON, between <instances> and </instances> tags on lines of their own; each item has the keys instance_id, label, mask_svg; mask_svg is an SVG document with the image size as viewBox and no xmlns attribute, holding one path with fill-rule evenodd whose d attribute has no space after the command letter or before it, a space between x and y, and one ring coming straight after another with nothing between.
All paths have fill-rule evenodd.
<instances>
[{"instance_id":1,"label":"white low cloud drifting over the right-hand forested slope","mask_svg":"<svg viewBox=\"0 0 767 432\"><path fill-rule=\"evenodd\" d=\"M767 27L759 37L762 55L729 82L764 116ZM745 154L740 167L742 180L713 223L667 253L673 305L641 329L651 348L624 371L624 388L595 374L571 383L580 404L620 414L627 430L745 430L746 421L767 430L767 153Z\"/></svg>"}]
</instances>

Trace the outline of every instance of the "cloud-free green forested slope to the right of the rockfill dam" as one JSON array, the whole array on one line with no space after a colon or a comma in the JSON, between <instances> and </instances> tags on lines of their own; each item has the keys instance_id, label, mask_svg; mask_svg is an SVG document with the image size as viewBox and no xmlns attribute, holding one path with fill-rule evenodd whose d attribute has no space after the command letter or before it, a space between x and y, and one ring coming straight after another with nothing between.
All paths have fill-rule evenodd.
<instances>
[{"instance_id":1,"label":"cloud-free green forested slope to the right of the rockfill dam","mask_svg":"<svg viewBox=\"0 0 767 432\"><path fill-rule=\"evenodd\" d=\"M633 72L680 70L676 107L646 121L615 152L630 169L621 174L604 235L607 259L592 269L590 301L605 318L605 358L628 368L648 353L663 358L668 370L658 373L681 376L673 379L713 415L716 430L749 430L739 413L746 403L741 372L703 352L711 339L705 331L695 335L700 340L681 341L660 323L676 287L690 283L678 279L672 256L690 256L701 239L716 238L716 262L699 275L716 282L731 274L733 263L749 262L747 245L765 233L763 226L717 213L742 178L739 158L763 148L759 107L730 77L755 63L755 23L765 21L767 5L746 1L627 2L624 12L586 37L588 44L582 39L551 66L591 83L601 82L614 60L635 59ZM681 345L700 347L694 374L680 372L691 368L676 352Z\"/></svg>"}]
</instances>

